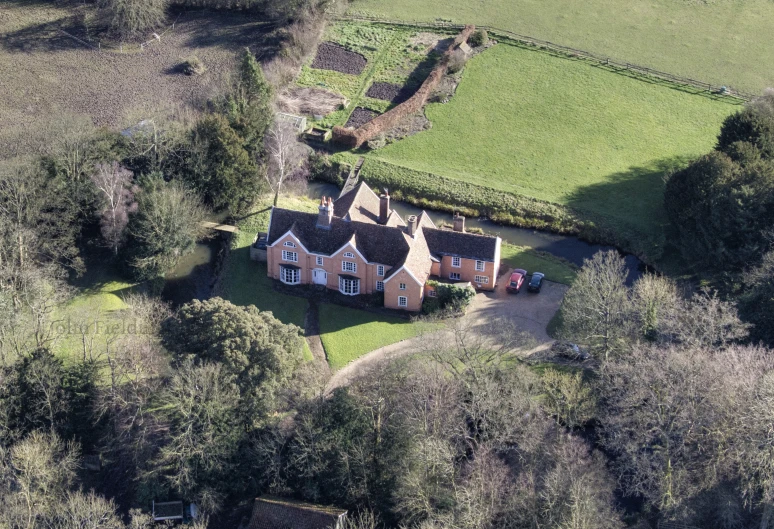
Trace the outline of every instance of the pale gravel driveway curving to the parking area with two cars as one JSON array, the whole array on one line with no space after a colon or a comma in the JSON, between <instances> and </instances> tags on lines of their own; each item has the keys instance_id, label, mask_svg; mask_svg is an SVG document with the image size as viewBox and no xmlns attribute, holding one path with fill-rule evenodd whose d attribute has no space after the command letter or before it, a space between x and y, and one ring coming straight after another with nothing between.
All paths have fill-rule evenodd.
<instances>
[{"instance_id":1,"label":"pale gravel driveway curving to the parking area with two cars","mask_svg":"<svg viewBox=\"0 0 774 529\"><path fill-rule=\"evenodd\" d=\"M536 346L530 352L543 349L553 342L546 333L546 327L559 310L569 287L544 281L539 294L528 293L526 286L519 294L509 294L505 290L505 284L510 272L508 269L498 278L497 288L493 292L479 292L476 295L465 318L469 318L476 327L484 326L493 319L505 318L513 322L519 330L527 331L535 338ZM432 333L420 335L371 351L336 371L328 381L326 392L348 385L353 379L382 362L416 353L422 349L423 343L432 339Z\"/></svg>"}]
</instances>

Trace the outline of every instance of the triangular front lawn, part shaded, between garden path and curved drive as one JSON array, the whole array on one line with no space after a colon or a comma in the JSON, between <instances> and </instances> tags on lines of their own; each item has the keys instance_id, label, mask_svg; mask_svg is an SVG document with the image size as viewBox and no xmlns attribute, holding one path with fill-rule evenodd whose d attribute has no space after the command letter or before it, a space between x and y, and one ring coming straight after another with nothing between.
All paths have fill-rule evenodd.
<instances>
[{"instance_id":1,"label":"triangular front lawn, part shaded, between garden path and curved drive","mask_svg":"<svg viewBox=\"0 0 774 529\"><path fill-rule=\"evenodd\" d=\"M421 323L338 305L320 307L320 338L332 369L374 349L413 338L422 328Z\"/></svg>"}]
</instances>

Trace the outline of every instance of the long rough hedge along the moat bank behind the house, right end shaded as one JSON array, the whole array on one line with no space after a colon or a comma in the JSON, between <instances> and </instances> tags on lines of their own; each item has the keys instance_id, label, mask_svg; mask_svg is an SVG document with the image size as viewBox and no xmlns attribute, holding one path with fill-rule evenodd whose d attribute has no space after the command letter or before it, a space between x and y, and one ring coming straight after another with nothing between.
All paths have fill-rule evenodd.
<instances>
[{"instance_id":1,"label":"long rough hedge along the moat bank behind the house, right end shaded","mask_svg":"<svg viewBox=\"0 0 774 529\"><path fill-rule=\"evenodd\" d=\"M654 240L618 220L370 157L366 158L360 178L372 188L387 188L394 199L418 207L457 211L469 217L485 216L507 226L577 235L590 243L616 246L648 264L653 264L663 252L663 240Z\"/></svg>"}]
</instances>

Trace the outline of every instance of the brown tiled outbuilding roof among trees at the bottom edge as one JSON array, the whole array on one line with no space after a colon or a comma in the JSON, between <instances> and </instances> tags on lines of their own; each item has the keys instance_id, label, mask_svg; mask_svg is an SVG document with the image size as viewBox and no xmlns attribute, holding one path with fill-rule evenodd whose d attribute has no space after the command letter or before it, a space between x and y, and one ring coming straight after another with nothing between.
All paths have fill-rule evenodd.
<instances>
[{"instance_id":1,"label":"brown tiled outbuilding roof among trees at the bottom edge","mask_svg":"<svg viewBox=\"0 0 774 529\"><path fill-rule=\"evenodd\" d=\"M334 529L346 510L285 498L261 496L253 505L249 529Z\"/></svg>"}]
</instances>

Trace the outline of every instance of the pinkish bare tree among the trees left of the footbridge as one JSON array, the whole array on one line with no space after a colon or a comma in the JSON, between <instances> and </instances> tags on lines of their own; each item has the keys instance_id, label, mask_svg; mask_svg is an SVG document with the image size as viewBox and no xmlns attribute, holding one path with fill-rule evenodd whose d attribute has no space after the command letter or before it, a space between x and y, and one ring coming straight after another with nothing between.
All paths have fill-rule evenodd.
<instances>
[{"instance_id":1,"label":"pinkish bare tree among the trees left of the footbridge","mask_svg":"<svg viewBox=\"0 0 774 529\"><path fill-rule=\"evenodd\" d=\"M97 165L91 181L102 197L100 230L102 237L113 253L124 239L124 230L129 223L129 214L137 211L137 202L132 191L132 172L117 162Z\"/></svg>"}]
</instances>

